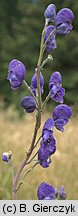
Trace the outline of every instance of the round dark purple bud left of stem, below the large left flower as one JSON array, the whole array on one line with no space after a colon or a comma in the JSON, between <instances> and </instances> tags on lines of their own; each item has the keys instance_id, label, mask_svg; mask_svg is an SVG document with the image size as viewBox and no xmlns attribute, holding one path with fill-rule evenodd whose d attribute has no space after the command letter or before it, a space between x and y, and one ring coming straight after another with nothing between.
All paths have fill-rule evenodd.
<instances>
[{"instance_id":1,"label":"round dark purple bud left of stem, below the large left flower","mask_svg":"<svg viewBox=\"0 0 78 216\"><path fill-rule=\"evenodd\" d=\"M20 105L27 113L31 113L36 109L36 103L31 96L25 96L22 98Z\"/></svg>"}]
</instances>

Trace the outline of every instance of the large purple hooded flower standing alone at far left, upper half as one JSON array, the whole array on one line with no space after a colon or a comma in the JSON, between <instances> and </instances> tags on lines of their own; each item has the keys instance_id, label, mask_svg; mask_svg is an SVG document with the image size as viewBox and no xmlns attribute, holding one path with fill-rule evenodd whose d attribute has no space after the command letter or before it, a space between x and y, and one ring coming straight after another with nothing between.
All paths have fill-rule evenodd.
<instances>
[{"instance_id":1,"label":"large purple hooded flower standing alone at far left, upper half","mask_svg":"<svg viewBox=\"0 0 78 216\"><path fill-rule=\"evenodd\" d=\"M22 85L25 75L26 69L24 64L19 60L13 59L9 63L9 73L7 77L13 90L16 90Z\"/></svg>"}]
</instances>

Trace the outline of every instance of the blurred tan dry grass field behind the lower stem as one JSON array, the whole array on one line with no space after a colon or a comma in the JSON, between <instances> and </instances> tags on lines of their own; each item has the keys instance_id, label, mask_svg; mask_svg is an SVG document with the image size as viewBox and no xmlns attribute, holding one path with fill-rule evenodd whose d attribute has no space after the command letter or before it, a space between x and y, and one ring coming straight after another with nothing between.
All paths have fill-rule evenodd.
<instances>
[{"instance_id":1,"label":"blurred tan dry grass field behind the lower stem","mask_svg":"<svg viewBox=\"0 0 78 216\"><path fill-rule=\"evenodd\" d=\"M50 112L44 112L42 126L51 117ZM25 114L17 118L11 109L0 112L0 199L12 199L12 179L8 163L1 161L2 152L12 151L15 172L22 162L25 152L31 143L35 123L34 114ZM40 135L41 129L38 135ZM37 199L37 188L45 181L59 188L65 186L67 199L78 200L78 118L72 117L65 126L64 133L54 129L57 140L57 151L52 156L49 168L40 165L26 176L21 185L17 199ZM38 146L39 147L39 146ZM28 166L29 168L29 166ZM26 168L23 171L26 171Z\"/></svg>"}]
</instances>

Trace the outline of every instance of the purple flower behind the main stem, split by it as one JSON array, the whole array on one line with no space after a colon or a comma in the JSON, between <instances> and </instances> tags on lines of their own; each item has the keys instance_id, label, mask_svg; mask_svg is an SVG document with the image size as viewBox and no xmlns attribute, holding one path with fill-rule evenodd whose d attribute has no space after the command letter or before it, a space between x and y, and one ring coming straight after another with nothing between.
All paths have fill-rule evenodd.
<instances>
[{"instance_id":1,"label":"purple flower behind the main stem, split by it","mask_svg":"<svg viewBox=\"0 0 78 216\"><path fill-rule=\"evenodd\" d=\"M44 85L44 77L42 73L40 72L40 90L41 94L43 93L43 85ZM35 72L34 76L32 77L31 80L31 89L34 95L36 95L36 90L37 90L37 72Z\"/></svg>"}]
</instances>

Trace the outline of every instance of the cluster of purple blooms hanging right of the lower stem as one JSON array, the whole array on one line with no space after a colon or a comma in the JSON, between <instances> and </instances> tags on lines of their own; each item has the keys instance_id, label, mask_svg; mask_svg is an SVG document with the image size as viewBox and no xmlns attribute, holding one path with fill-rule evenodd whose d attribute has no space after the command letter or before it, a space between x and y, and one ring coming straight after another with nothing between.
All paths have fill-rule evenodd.
<instances>
[{"instance_id":1,"label":"cluster of purple blooms hanging right of the lower stem","mask_svg":"<svg viewBox=\"0 0 78 216\"><path fill-rule=\"evenodd\" d=\"M45 122L42 129L42 141L38 151L38 160L42 167L46 168L49 166L51 163L50 156L56 151L56 140L53 135L54 126L63 132L64 125L68 123L71 115L72 109L68 105L57 105L53 111L52 118Z\"/></svg>"}]
</instances>

